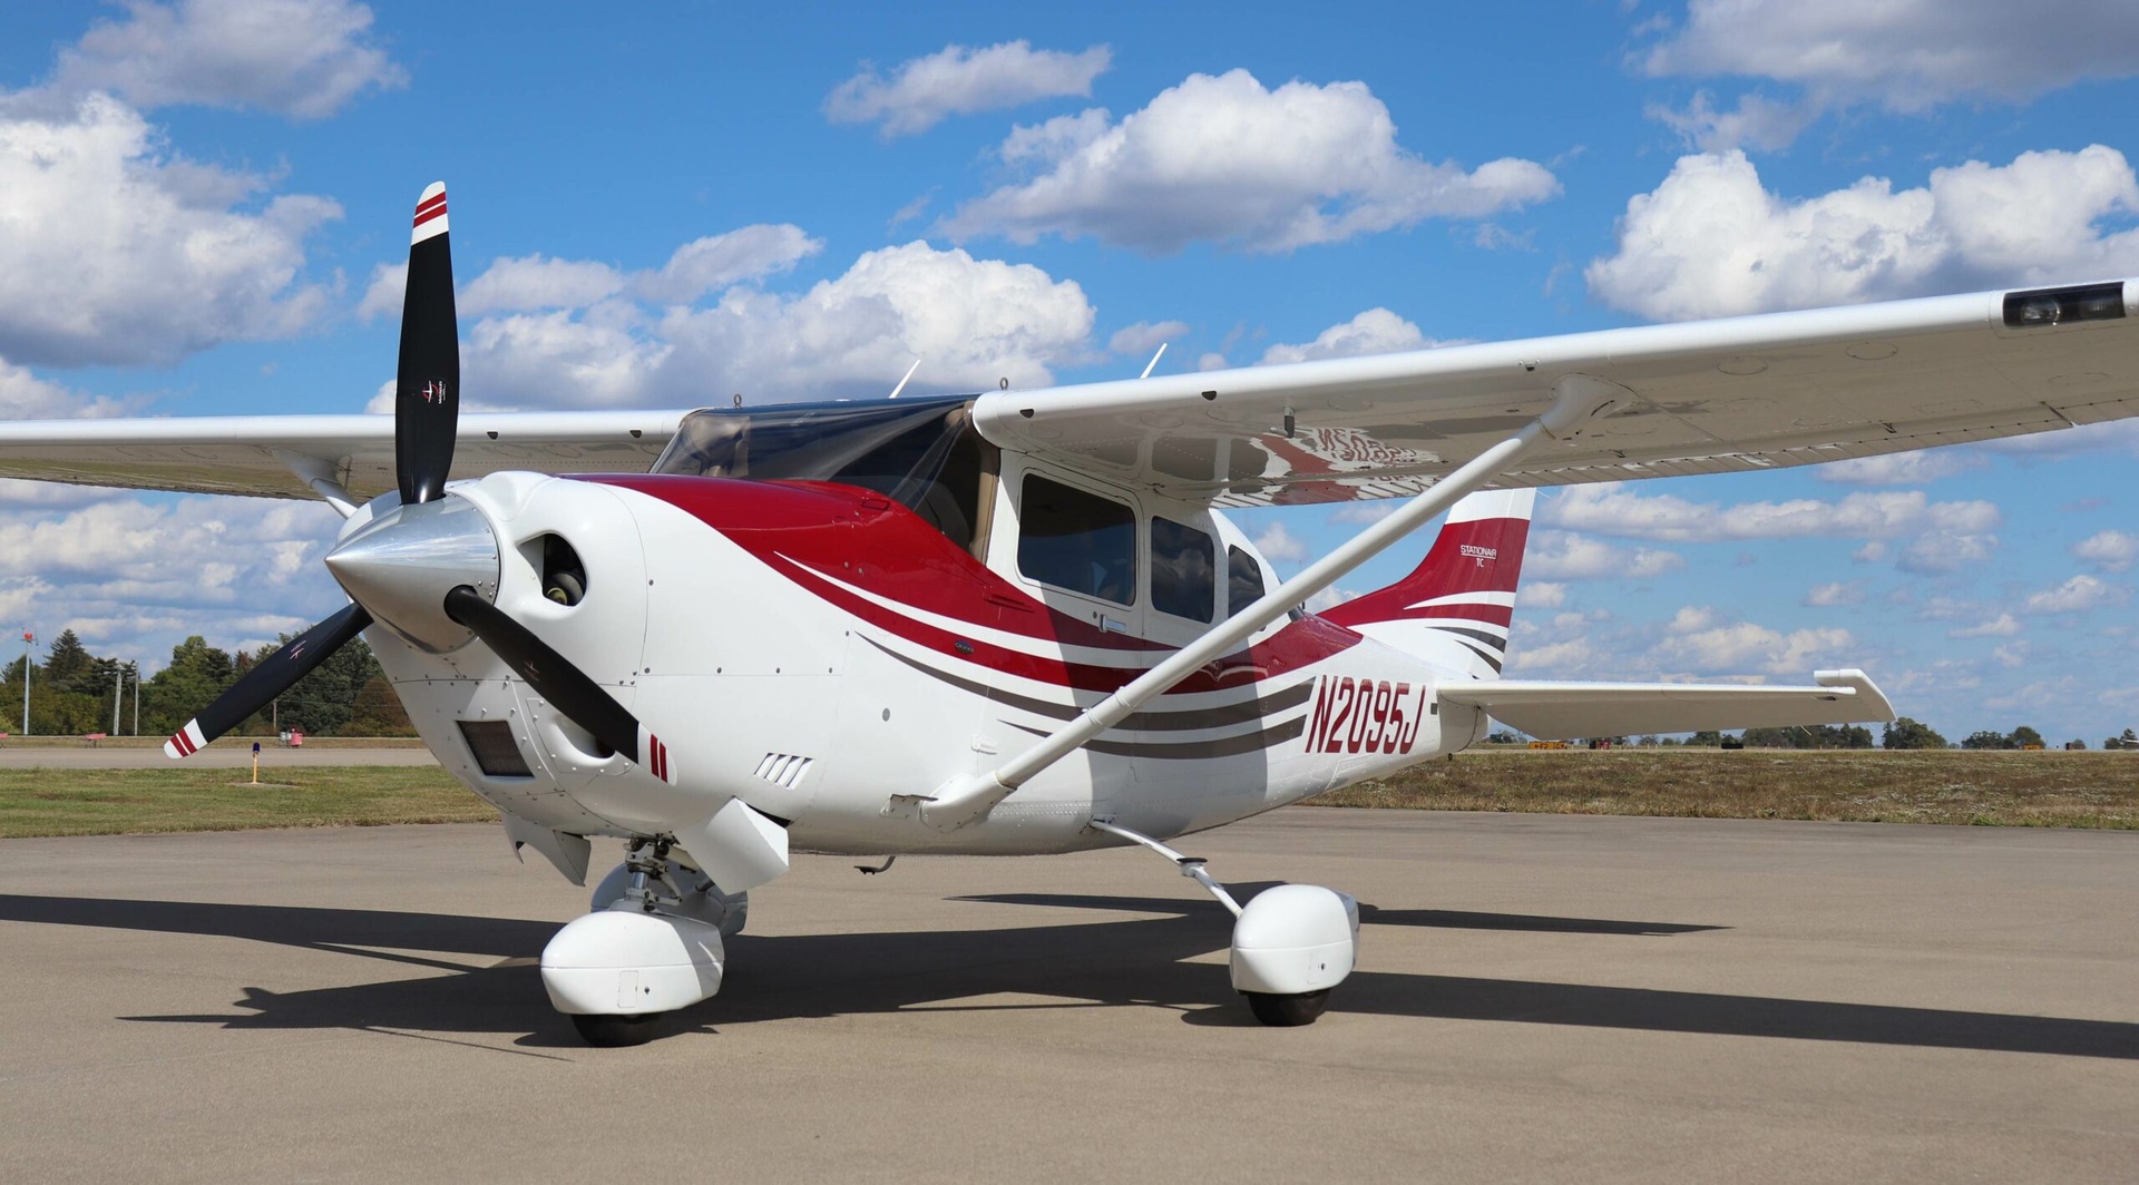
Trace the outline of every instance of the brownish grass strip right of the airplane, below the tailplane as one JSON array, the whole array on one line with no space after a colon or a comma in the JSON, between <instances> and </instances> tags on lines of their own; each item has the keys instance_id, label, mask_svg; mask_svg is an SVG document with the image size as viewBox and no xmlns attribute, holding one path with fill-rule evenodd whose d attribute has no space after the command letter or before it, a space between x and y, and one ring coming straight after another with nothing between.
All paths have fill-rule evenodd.
<instances>
[{"instance_id":1,"label":"brownish grass strip right of the airplane, below the tailplane","mask_svg":"<svg viewBox=\"0 0 2139 1185\"><path fill-rule=\"evenodd\" d=\"M2139 753L1478 749L1324 806L2139 828Z\"/></svg>"}]
</instances>

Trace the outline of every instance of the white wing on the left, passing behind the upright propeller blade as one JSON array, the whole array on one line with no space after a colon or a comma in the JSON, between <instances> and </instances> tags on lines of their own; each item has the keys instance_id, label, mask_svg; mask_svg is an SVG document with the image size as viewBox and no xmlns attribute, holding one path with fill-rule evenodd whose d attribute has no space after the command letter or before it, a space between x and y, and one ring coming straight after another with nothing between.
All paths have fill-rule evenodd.
<instances>
[{"instance_id":1,"label":"white wing on the left, passing behind the upright propeller blade","mask_svg":"<svg viewBox=\"0 0 2139 1185\"><path fill-rule=\"evenodd\" d=\"M451 477L501 468L644 473L682 411L462 415ZM310 498L299 468L357 501L394 490L391 415L218 415L0 424L0 477Z\"/></svg>"}]
</instances>

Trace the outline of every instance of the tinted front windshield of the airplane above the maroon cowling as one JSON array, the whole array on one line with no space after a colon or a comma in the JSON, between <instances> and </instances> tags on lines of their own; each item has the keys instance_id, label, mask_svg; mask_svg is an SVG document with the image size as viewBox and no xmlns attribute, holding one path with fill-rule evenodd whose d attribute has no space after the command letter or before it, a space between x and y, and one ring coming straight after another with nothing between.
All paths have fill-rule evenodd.
<instances>
[{"instance_id":1,"label":"tinted front windshield of the airplane above the maroon cowling","mask_svg":"<svg viewBox=\"0 0 2139 1185\"><path fill-rule=\"evenodd\" d=\"M971 550L992 466L969 406L958 396L693 411L652 471L860 486Z\"/></svg>"}]
</instances>

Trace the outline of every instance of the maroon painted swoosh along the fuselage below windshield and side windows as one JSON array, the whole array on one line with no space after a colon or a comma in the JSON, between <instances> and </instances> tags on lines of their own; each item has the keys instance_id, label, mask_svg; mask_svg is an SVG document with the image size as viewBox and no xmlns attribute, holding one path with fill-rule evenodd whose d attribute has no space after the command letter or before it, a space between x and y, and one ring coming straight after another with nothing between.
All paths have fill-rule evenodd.
<instances>
[{"instance_id":1,"label":"maroon painted swoosh along the fuselage below windshield and side windows","mask_svg":"<svg viewBox=\"0 0 2139 1185\"><path fill-rule=\"evenodd\" d=\"M1046 605L990 571L907 507L871 490L830 481L740 481L652 473L584 479L659 498L719 530L811 595L911 644L986 670L1078 691L1112 691L1174 650L1164 642L1102 631ZM856 597L826 575L886 601L978 629L1112 652L1123 665L1046 659L965 637ZM1172 693L1243 687L1320 663L1358 642L1358 633L1307 616L1249 650L1211 663Z\"/></svg>"}]
</instances>

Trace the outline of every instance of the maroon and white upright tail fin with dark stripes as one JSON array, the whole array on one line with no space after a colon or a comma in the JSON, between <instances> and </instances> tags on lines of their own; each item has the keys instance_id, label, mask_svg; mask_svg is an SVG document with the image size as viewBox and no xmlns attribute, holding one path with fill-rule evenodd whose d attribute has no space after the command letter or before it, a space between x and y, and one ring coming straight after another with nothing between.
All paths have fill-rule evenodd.
<instances>
[{"instance_id":1,"label":"maroon and white upright tail fin with dark stripes","mask_svg":"<svg viewBox=\"0 0 2139 1185\"><path fill-rule=\"evenodd\" d=\"M1412 575L1322 616L1431 663L1495 678L1508 659L1508 620L1536 501L1536 490L1463 498Z\"/></svg>"}]
</instances>

